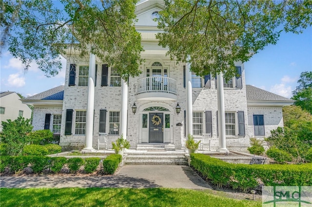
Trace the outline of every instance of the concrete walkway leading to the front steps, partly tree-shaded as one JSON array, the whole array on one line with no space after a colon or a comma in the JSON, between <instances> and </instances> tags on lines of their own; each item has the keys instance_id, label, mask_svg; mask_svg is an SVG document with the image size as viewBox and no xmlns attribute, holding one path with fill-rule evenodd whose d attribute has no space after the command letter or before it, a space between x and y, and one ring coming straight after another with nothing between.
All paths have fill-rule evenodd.
<instances>
[{"instance_id":1,"label":"concrete walkway leading to the front steps, partly tree-shaded","mask_svg":"<svg viewBox=\"0 0 312 207\"><path fill-rule=\"evenodd\" d=\"M115 175L3 176L1 188L184 188L211 189L189 166L125 165Z\"/></svg>"}]
</instances>

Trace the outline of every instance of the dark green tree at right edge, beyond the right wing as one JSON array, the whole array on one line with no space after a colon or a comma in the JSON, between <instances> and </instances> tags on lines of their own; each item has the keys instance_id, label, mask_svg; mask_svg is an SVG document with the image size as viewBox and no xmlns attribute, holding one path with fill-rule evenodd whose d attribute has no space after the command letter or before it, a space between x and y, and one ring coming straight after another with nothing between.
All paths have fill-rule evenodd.
<instances>
[{"instance_id":1,"label":"dark green tree at right edge, beyond the right wing","mask_svg":"<svg viewBox=\"0 0 312 207\"><path fill-rule=\"evenodd\" d=\"M296 100L294 104L312 114L312 71L302 72L297 83L299 86L292 91L292 99Z\"/></svg>"}]
</instances>

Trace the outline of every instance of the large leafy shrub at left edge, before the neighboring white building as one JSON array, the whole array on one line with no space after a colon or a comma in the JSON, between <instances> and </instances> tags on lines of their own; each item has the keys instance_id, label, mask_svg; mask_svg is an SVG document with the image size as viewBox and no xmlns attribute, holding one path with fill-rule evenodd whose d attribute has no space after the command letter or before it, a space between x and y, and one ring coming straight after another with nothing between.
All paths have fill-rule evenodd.
<instances>
[{"instance_id":1,"label":"large leafy shrub at left edge, before the neighboring white building","mask_svg":"<svg viewBox=\"0 0 312 207\"><path fill-rule=\"evenodd\" d=\"M1 121L1 124L2 131L0 133L0 139L2 143L7 144L7 155L21 155L24 146L30 143L27 136L33 129L30 120L19 117L14 121Z\"/></svg>"}]
</instances>

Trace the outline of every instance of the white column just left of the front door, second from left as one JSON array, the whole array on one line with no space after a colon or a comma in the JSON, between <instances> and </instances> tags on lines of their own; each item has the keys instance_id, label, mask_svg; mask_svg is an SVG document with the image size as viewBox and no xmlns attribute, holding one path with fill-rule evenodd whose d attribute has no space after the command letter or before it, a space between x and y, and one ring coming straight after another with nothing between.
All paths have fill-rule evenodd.
<instances>
[{"instance_id":1,"label":"white column just left of the front door, second from left","mask_svg":"<svg viewBox=\"0 0 312 207\"><path fill-rule=\"evenodd\" d=\"M122 79L121 86L121 117L120 117L120 136L127 139L127 117L128 117L128 85Z\"/></svg>"}]
</instances>

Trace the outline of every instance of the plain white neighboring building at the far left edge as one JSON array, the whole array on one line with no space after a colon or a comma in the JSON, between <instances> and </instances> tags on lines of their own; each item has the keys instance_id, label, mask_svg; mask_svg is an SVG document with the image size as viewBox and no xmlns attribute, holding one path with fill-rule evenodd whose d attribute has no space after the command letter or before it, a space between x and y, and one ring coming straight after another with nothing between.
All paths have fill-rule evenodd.
<instances>
[{"instance_id":1,"label":"plain white neighboring building at the far left edge","mask_svg":"<svg viewBox=\"0 0 312 207\"><path fill-rule=\"evenodd\" d=\"M31 112L32 110L29 106L20 101L20 96L16 92L7 91L0 93L0 121L13 121L20 116L30 119ZM2 125L0 123L1 130Z\"/></svg>"}]
</instances>

